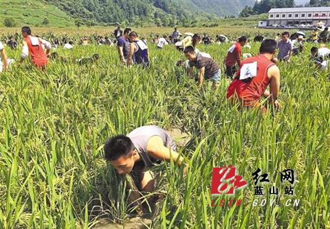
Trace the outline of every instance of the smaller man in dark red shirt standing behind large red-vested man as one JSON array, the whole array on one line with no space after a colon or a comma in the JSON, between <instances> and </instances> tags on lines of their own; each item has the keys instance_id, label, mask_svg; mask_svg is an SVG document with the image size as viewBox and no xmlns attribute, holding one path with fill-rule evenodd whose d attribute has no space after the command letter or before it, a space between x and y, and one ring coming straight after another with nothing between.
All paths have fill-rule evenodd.
<instances>
[{"instance_id":1,"label":"smaller man in dark red shirt standing behind large red-vested man","mask_svg":"<svg viewBox=\"0 0 330 229\"><path fill-rule=\"evenodd\" d=\"M235 43L228 50L225 57L225 75L232 78L237 71L236 65L241 66L242 47L247 43L248 39L245 36L239 38L239 42Z\"/></svg>"}]
</instances>

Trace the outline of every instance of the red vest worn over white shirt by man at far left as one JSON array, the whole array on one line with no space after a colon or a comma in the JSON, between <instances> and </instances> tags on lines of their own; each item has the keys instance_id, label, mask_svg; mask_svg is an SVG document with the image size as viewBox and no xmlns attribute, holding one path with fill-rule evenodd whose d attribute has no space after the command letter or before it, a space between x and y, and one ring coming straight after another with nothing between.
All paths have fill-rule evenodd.
<instances>
[{"instance_id":1,"label":"red vest worn over white shirt by man at far left","mask_svg":"<svg viewBox=\"0 0 330 229\"><path fill-rule=\"evenodd\" d=\"M26 37L24 41L28 44L29 55L31 61L36 67L45 67L48 63L47 56L43 50L43 46L39 40L39 45L32 45L30 37Z\"/></svg>"}]
</instances>

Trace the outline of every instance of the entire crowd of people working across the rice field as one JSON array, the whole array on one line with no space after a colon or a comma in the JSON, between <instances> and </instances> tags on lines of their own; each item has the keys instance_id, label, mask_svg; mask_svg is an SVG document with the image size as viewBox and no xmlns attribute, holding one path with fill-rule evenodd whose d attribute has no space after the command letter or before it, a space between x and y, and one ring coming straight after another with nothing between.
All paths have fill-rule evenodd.
<instances>
[{"instance_id":1,"label":"entire crowd of people working across the rice field","mask_svg":"<svg viewBox=\"0 0 330 229\"><path fill-rule=\"evenodd\" d=\"M59 56L56 52L50 54L52 45L55 49L63 46L64 50L71 50L74 48L74 43L66 39L60 43L56 39L51 44L38 36L32 36L32 31L28 27L23 27L21 33L23 47L19 63L23 63L26 58L30 57L32 64L43 71L45 71L49 59L76 61L85 64L94 63L100 58L98 54L94 54L90 58L69 60L65 56ZM113 32L113 37L115 41L107 37L103 39L102 36L98 36L96 41L104 45L115 43L122 65L142 65L142 67L148 68L149 51L145 39L140 39L137 32L130 28L125 28L122 31L120 26ZM242 53L242 47L248 47L249 39L241 36L227 50L223 60L224 74L221 72L221 65L216 63L210 54L200 52L197 49L200 44L229 43L229 39L222 34L217 36L216 41L213 41L207 34L202 37L199 34L181 34L175 28L170 36L155 36L152 42L159 50L172 44L173 48L183 52L187 60L178 61L177 66L185 67L188 70L188 77L192 77L193 69L197 68L199 85L203 85L204 80L210 80L215 88L219 85L221 78L228 78L230 85L226 97L232 104L238 105L239 109L261 109L266 112L267 105L274 106L276 109L281 108L278 102L281 73L277 64L280 61L289 64L292 61L292 56L304 52L305 42L324 43L319 48L311 48L310 60L316 67L327 69L330 50L325 46L325 43L329 42L329 38L327 28L320 34L318 30L314 30L307 40L305 34L299 32L291 34L291 36L289 32L283 32L274 39L264 39L263 36L258 35L254 37L253 41L261 43L259 54L252 56ZM85 37L80 44L89 45L89 39ZM10 49L16 49L19 46L13 37L10 37L6 45ZM2 59L0 60L0 72L2 72L2 68L8 69L14 60L8 58L1 42L0 52ZM268 102L263 103L262 98L267 98ZM130 197L137 204L140 212L145 210L138 201L140 192L152 193L155 190L155 175L148 168L162 160L169 162L171 158L178 166L181 166L184 164L184 157L181 157L176 151L175 142L170 138L170 135L156 126L137 128L126 136L115 136L104 144L105 159L119 174L132 176L131 188L135 186L133 188L135 191L131 193ZM188 164L184 164L184 166L186 171Z\"/></svg>"}]
</instances>

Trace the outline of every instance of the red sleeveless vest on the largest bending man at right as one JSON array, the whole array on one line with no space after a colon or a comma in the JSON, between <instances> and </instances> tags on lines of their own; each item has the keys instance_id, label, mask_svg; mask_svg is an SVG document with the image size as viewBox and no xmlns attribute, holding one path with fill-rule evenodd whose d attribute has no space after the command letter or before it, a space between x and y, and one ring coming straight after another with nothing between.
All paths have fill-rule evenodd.
<instances>
[{"instance_id":1,"label":"red sleeveless vest on the largest bending man at right","mask_svg":"<svg viewBox=\"0 0 330 229\"><path fill-rule=\"evenodd\" d=\"M268 69L275 64L268 60L264 55L254 56L243 61L242 65L246 63L257 62L256 77L252 78L250 82L246 80L239 80L239 74L241 73L241 67L236 75L236 78L232 81L227 89L227 98L239 98L243 102L243 106L253 106L263 96L265 89L270 83L268 78Z\"/></svg>"}]
</instances>

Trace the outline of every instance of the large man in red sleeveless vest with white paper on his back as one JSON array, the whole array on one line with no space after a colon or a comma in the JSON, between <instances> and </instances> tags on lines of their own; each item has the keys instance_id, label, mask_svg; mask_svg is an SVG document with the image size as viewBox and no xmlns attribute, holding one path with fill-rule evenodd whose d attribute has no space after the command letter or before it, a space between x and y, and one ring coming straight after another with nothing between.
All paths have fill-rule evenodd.
<instances>
[{"instance_id":1,"label":"large man in red sleeveless vest with white paper on his back","mask_svg":"<svg viewBox=\"0 0 330 229\"><path fill-rule=\"evenodd\" d=\"M243 107L258 107L261 96L269 97L269 103L279 108L280 70L272 62L276 54L276 41L267 39L261 43L260 54L243 61L239 72L227 89L227 98L239 101ZM270 92L266 91L270 85Z\"/></svg>"}]
</instances>

